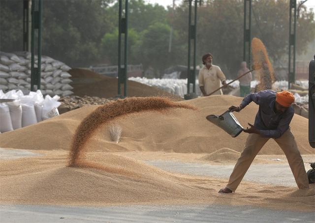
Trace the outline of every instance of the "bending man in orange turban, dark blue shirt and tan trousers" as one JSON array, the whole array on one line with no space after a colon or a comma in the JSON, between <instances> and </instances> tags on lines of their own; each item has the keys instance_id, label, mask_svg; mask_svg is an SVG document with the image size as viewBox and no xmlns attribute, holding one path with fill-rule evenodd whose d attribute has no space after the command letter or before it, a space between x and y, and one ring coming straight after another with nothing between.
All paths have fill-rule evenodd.
<instances>
[{"instance_id":1,"label":"bending man in orange turban, dark blue shirt and tan trousers","mask_svg":"<svg viewBox=\"0 0 315 223\"><path fill-rule=\"evenodd\" d=\"M294 115L291 106L294 96L288 91L276 93L265 90L246 96L239 106L231 106L229 109L240 112L252 101L259 105L255 123L249 123L250 128L244 129L244 132L249 133L244 150L235 164L228 184L219 193L231 193L237 189L252 160L270 138L284 151L299 189L309 189L304 162L289 127Z\"/></svg>"}]
</instances>

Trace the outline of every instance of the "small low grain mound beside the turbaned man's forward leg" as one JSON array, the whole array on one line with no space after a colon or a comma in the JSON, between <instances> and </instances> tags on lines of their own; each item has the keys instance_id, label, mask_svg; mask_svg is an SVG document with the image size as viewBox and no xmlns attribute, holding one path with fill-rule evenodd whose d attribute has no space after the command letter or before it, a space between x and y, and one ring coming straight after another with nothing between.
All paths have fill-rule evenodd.
<instances>
[{"instance_id":1,"label":"small low grain mound beside the turbaned man's forward leg","mask_svg":"<svg viewBox=\"0 0 315 223\"><path fill-rule=\"evenodd\" d=\"M239 159L240 155L241 153L235 150L231 150L229 148L221 148L220 150L217 150L204 157L201 157L200 159L204 161L213 161L213 162L230 162L230 161L234 162L237 159Z\"/></svg>"}]
</instances>

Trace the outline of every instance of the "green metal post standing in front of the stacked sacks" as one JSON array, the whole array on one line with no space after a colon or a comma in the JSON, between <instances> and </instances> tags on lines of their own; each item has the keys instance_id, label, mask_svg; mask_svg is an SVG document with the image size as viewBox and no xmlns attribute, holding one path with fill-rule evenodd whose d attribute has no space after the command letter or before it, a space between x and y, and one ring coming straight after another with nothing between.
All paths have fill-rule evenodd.
<instances>
[{"instance_id":1,"label":"green metal post standing in front of the stacked sacks","mask_svg":"<svg viewBox=\"0 0 315 223\"><path fill-rule=\"evenodd\" d=\"M32 38L31 38L31 91L34 91L34 85L40 90L40 67L41 67L41 17L42 0L32 0ZM37 68L35 63L35 30L37 30Z\"/></svg>"}]
</instances>

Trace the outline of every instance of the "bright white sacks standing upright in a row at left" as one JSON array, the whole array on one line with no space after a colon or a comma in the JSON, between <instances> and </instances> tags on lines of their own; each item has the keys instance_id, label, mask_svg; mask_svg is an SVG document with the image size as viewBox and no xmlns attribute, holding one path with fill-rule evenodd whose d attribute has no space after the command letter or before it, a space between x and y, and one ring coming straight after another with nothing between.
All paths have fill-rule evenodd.
<instances>
[{"instance_id":1,"label":"bright white sacks standing upright in a row at left","mask_svg":"<svg viewBox=\"0 0 315 223\"><path fill-rule=\"evenodd\" d=\"M29 95L24 95L21 90L12 90L5 94L0 90L0 99L14 99L12 102L0 102L0 133L57 116L61 105L59 96L47 95L44 98L40 90L30 92Z\"/></svg>"}]
</instances>

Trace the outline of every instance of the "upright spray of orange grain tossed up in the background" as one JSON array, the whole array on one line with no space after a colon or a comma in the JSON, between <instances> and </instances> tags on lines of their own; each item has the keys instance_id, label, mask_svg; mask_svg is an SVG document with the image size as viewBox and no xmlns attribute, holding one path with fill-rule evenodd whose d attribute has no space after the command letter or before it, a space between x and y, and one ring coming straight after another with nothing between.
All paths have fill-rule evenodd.
<instances>
[{"instance_id":1,"label":"upright spray of orange grain tossed up in the background","mask_svg":"<svg viewBox=\"0 0 315 223\"><path fill-rule=\"evenodd\" d=\"M262 68L256 71L260 81L256 86L256 92L272 89L272 83L276 80L274 69L269 61L265 45L258 38L252 39L252 61L253 64L262 64Z\"/></svg>"}]
</instances>

